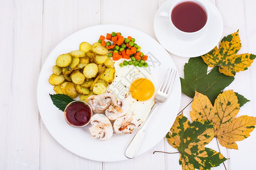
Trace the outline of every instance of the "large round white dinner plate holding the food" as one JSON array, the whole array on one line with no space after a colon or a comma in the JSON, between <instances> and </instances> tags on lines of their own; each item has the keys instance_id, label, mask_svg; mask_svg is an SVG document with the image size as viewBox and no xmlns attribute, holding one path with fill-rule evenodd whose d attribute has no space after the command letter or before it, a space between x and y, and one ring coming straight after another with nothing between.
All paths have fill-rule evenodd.
<instances>
[{"instance_id":1,"label":"large round white dinner plate holding the food","mask_svg":"<svg viewBox=\"0 0 256 170\"><path fill-rule=\"evenodd\" d=\"M111 33L112 31L121 32L124 36L134 37L137 44L141 45L142 52L148 54L149 58L152 59L152 61L148 59L148 65L150 65L152 76L155 78L156 89L158 89L167 68L176 69L166 50L145 33L121 25L97 25L73 33L52 50L40 72L37 90L39 112L52 137L74 154L102 162L126 160L124 153L134 134L115 135L108 141L99 141L91 137L88 126L78 129L72 128L65 122L63 112L52 104L49 93L55 94L55 92L53 91L53 86L48 83L48 78L52 74L52 66L55 65L56 58L60 54L79 49L79 45L83 41L93 44L93 42L98 41L100 35L106 35L106 33ZM170 130L180 106L180 97L181 86L179 75L177 75L170 97L166 103L160 105L150 122L148 122L137 156L150 150Z\"/></svg>"}]
</instances>

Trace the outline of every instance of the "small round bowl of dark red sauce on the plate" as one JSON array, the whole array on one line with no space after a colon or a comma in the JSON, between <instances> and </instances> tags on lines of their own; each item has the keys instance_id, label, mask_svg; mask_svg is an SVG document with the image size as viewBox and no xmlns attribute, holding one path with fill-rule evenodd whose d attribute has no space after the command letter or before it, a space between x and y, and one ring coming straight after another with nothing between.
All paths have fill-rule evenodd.
<instances>
[{"instance_id":1,"label":"small round bowl of dark red sauce on the plate","mask_svg":"<svg viewBox=\"0 0 256 170\"><path fill-rule=\"evenodd\" d=\"M66 117L70 124L75 126L83 126L90 121L92 112L88 105L83 103L73 103L66 109Z\"/></svg>"}]
</instances>

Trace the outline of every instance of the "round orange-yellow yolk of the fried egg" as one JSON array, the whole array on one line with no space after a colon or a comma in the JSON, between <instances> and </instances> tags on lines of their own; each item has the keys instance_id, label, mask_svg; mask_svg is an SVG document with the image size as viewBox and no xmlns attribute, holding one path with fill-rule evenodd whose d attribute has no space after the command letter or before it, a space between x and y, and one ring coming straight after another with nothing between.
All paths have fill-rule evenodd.
<instances>
[{"instance_id":1,"label":"round orange-yellow yolk of the fried egg","mask_svg":"<svg viewBox=\"0 0 256 170\"><path fill-rule=\"evenodd\" d=\"M131 83L130 92L134 99L145 101L154 95L155 87L150 80L139 78Z\"/></svg>"}]
</instances>

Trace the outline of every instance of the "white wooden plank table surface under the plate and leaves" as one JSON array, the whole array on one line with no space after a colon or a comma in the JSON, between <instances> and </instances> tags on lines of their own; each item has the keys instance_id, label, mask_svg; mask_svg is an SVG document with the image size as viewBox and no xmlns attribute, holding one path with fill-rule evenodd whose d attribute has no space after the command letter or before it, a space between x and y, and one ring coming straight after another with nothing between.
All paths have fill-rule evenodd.
<instances>
[{"instance_id":1,"label":"white wooden plank table surface under the plate and leaves","mask_svg":"<svg viewBox=\"0 0 256 170\"><path fill-rule=\"evenodd\" d=\"M179 154L163 139L135 159L123 162L94 162L72 154L48 133L38 112L36 85L40 69L51 50L79 29L97 24L121 24L137 28L155 38L154 15L165 0L1 0L0 10L0 169L181 169ZM207 1L207 0L205 0ZM256 54L256 1L210 0L220 10L224 33L240 29L240 53ZM155 38L156 39L156 38ZM198 47L200 48L200 46ZM180 76L187 58L170 54ZM251 100L239 115L256 116L256 63L236 75L227 88ZM182 96L180 109L191 99ZM188 116L191 106L184 114ZM230 158L227 169L255 169L256 130L237 142L239 150L221 148ZM208 147L218 150L216 141ZM214 169L224 169L224 165Z\"/></svg>"}]
</instances>

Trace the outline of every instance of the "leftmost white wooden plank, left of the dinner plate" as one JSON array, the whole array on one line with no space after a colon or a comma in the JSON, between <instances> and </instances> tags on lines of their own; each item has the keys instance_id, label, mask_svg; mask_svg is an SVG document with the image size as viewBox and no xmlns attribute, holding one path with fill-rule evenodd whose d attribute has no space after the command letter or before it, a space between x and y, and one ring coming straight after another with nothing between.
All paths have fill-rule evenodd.
<instances>
[{"instance_id":1,"label":"leftmost white wooden plank, left of the dinner plate","mask_svg":"<svg viewBox=\"0 0 256 170\"><path fill-rule=\"evenodd\" d=\"M0 169L39 169L42 1L0 1Z\"/></svg>"}]
</instances>

